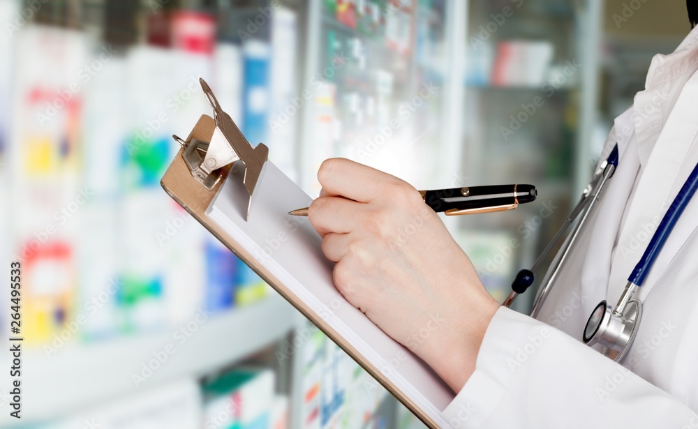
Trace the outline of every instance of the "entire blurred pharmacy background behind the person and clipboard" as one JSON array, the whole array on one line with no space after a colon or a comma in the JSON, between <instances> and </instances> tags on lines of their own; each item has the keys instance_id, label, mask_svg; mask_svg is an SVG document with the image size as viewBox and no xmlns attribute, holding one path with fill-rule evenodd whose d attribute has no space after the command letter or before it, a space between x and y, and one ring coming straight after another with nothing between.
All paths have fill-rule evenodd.
<instances>
[{"instance_id":1,"label":"entire blurred pharmacy background behind the person and clipboard","mask_svg":"<svg viewBox=\"0 0 698 429\"><path fill-rule=\"evenodd\" d=\"M445 218L502 301L690 31L683 0L0 0L0 24L21 421L59 428L422 427L161 189L171 135L210 114L198 77L310 195L330 156L419 189L535 184Z\"/></svg>"}]
</instances>

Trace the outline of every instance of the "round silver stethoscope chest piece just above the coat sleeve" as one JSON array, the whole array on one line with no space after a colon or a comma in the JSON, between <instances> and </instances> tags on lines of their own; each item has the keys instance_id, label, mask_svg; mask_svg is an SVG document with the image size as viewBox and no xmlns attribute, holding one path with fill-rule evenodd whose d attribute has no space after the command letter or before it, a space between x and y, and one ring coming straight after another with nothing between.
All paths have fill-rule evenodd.
<instances>
[{"instance_id":1,"label":"round silver stethoscope chest piece just above the coat sleeve","mask_svg":"<svg viewBox=\"0 0 698 429\"><path fill-rule=\"evenodd\" d=\"M591 312L584 329L584 343L604 346L602 353L621 362L632 346L640 326L642 306L637 299L628 301L621 312L601 301Z\"/></svg>"}]
</instances>

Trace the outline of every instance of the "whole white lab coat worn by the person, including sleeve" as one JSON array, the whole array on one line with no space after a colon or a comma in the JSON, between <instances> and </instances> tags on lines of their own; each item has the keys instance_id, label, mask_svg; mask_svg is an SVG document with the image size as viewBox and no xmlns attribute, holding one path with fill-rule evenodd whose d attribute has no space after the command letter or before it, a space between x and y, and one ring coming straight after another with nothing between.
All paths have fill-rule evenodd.
<instances>
[{"instance_id":1,"label":"whole white lab coat worn by the person, including sleeve","mask_svg":"<svg viewBox=\"0 0 698 429\"><path fill-rule=\"evenodd\" d=\"M698 163L698 29L653 58L602 159L620 162L538 320L500 308L473 376L444 415L454 428L698 428L698 195L644 286L623 365L581 342L615 305L667 207Z\"/></svg>"}]
</instances>

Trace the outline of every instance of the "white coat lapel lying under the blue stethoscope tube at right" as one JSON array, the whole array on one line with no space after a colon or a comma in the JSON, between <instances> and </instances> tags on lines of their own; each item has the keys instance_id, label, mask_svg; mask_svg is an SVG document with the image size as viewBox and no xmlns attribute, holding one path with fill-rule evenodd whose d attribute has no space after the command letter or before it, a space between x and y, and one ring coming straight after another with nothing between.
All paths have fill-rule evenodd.
<instances>
[{"instance_id":1,"label":"white coat lapel lying under the blue stethoscope tube at right","mask_svg":"<svg viewBox=\"0 0 698 429\"><path fill-rule=\"evenodd\" d=\"M695 72L697 58L698 51L694 50L682 53L676 63L659 61L661 67L654 67L656 61L653 60L655 71L648 74L648 84L654 83L651 81L653 77L658 76L656 70L659 68L667 70L668 75L674 80L663 79L662 82L655 82L651 88L648 87L635 98L635 139L643 171L611 265L607 292L607 298L611 301L620 296L630 271L644 252L676 191L695 165L695 156L698 153L690 153L689 149L698 130L698 115L695 113L698 75L691 77L688 83L685 83L685 75L690 76ZM657 108L653 112L654 106ZM641 116L638 120L638 110L653 113ZM686 165L690 166L688 172ZM678 183L678 188L677 182L681 182ZM697 216L687 210L681 219L683 229L695 229ZM664 246L660 259L647 279L649 287L641 290L641 298L646 296L658 273L663 271L688 236L677 232L678 229L671 234Z\"/></svg>"}]
</instances>

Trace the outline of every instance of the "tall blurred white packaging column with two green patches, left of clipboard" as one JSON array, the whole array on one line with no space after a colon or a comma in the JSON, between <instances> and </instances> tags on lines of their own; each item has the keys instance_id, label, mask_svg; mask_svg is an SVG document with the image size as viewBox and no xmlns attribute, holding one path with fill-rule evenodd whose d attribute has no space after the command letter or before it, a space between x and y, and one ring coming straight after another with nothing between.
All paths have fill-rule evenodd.
<instances>
[{"instance_id":1,"label":"tall blurred white packaging column with two green patches, left of clipboard","mask_svg":"<svg viewBox=\"0 0 698 429\"><path fill-rule=\"evenodd\" d=\"M129 110L120 157L119 292L120 329L125 332L158 329L165 324L164 283L166 253L155 231L171 218L169 199L159 186L174 153L168 113L162 100L171 89L167 80L151 84L149 73L165 75L173 66L168 51L137 48L126 57Z\"/></svg>"}]
</instances>

